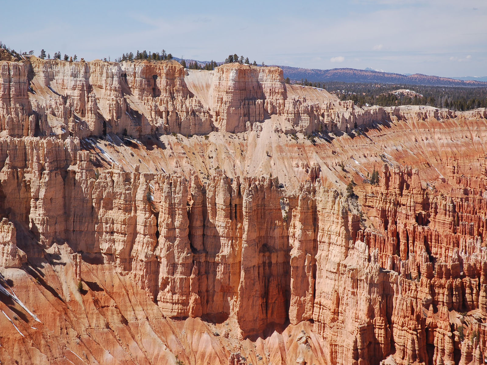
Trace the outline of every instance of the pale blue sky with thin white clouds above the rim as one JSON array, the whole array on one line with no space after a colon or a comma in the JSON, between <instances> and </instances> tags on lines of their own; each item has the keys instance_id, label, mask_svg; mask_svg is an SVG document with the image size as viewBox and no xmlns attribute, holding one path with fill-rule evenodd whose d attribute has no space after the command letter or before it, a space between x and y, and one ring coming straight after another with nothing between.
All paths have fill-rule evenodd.
<instances>
[{"instance_id":1,"label":"pale blue sky with thin white clouds above the rim","mask_svg":"<svg viewBox=\"0 0 487 365\"><path fill-rule=\"evenodd\" d=\"M487 0L5 1L0 40L86 60L176 57L487 76Z\"/></svg>"}]
</instances>

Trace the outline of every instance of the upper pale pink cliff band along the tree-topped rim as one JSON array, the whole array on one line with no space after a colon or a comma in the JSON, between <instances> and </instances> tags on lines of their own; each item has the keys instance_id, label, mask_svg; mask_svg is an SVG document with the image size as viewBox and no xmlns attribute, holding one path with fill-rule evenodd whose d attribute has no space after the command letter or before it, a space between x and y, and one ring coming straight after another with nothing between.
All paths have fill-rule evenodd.
<instances>
[{"instance_id":1,"label":"upper pale pink cliff band along the tree-topped rim","mask_svg":"<svg viewBox=\"0 0 487 365\"><path fill-rule=\"evenodd\" d=\"M176 61L67 62L35 56L1 61L0 67L0 132L13 137L237 133L273 116L290 133L348 133L393 117L486 116L485 110L357 108L321 89L284 84L277 67L225 64L211 72L185 71Z\"/></svg>"}]
</instances>

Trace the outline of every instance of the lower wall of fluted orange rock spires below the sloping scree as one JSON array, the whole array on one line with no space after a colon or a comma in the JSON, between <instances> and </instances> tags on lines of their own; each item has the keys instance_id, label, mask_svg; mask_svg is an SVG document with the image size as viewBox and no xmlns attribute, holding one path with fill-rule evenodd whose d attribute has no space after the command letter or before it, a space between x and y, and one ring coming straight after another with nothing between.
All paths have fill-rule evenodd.
<instances>
[{"instance_id":1,"label":"lower wall of fluted orange rock spires below the sloping scree","mask_svg":"<svg viewBox=\"0 0 487 365\"><path fill-rule=\"evenodd\" d=\"M312 321L331 364L390 353L400 364L453 364L484 351L475 317L457 324L449 313L487 308L485 178L448 197L417 169L385 164L380 185L359 193L375 221L366 228L357 201L319 179L289 195L272 179L221 172L206 184L116 165L98 172L77 139L4 143L8 218L46 249L67 242L129 274L166 316L234 319L243 338ZM6 218L1 227L2 266L19 267L17 245L32 248ZM479 340L462 347L460 326Z\"/></svg>"}]
</instances>

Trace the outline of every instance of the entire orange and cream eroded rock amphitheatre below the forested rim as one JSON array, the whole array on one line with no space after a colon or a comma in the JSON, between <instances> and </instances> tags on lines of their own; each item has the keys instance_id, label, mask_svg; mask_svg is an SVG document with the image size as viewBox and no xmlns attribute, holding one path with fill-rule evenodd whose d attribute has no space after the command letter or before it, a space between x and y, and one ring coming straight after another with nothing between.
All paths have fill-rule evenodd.
<instances>
[{"instance_id":1,"label":"entire orange and cream eroded rock amphitheatre below the forested rim","mask_svg":"<svg viewBox=\"0 0 487 365\"><path fill-rule=\"evenodd\" d=\"M482 364L486 136L277 67L0 61L0 361Z\"/></svg>"}]
</instances>

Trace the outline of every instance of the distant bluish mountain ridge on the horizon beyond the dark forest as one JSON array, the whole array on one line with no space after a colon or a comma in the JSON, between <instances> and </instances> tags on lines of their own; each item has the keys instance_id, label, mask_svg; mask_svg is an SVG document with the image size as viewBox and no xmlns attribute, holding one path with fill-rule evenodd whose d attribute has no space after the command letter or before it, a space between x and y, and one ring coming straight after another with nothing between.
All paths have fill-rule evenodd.
<instances>
[{"instance_id":1,"label":"distant bluish mountain ridge on the horizon beyond the dark forest","mask_svg":"<svg viewBox=\"0 0 487 365\"><path fill-rule=\"evenodd\" d=\"M279 66L284 71L284 78L300 81L307 79L311 82L341 81L341 82L379 82L387 84L409 84L409 85L435 85L435 86L466 86L466 87L487 87L486 77L459 77L448 78L440 76L429 76L421 73L403 75L401 73L388 73L356 69L303 69L298 67Z\"/></svg>"}]
</instances>

